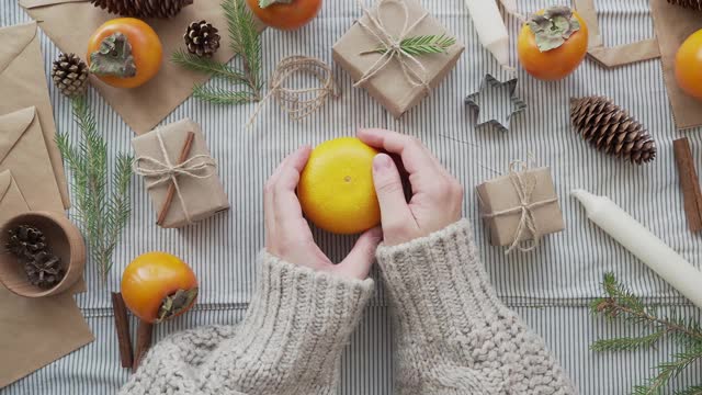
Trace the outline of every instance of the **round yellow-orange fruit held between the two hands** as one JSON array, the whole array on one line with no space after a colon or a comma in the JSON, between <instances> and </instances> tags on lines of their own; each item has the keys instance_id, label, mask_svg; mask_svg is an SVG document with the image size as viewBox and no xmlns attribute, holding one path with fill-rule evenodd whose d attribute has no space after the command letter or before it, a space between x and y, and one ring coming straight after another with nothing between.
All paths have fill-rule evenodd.
<instances>
[{"instance_id":1,"label":"round yellow-orange fruit held between the two hands","mask_svg":"<svg viewBox=\"0 0 702 395\"><path fill-rule=\"evenodd\" d=\"M354 137L317 146L303 170L297 196L305 216L318 227L353 235L381 223L373 185L377 150Z\"/></svg>"}]
</instances>

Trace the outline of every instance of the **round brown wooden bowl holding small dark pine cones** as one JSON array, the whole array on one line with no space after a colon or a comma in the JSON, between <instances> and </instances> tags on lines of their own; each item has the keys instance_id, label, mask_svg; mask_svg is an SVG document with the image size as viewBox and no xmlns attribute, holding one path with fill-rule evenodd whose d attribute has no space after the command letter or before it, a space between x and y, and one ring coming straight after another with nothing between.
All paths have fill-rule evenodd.
<instances>
[{"instance_id":1,"label":"round brown wooden bowl holding small dark pine cones","mask_svg":"<svg viewBox=\"0 0 702 395\"><path fill-rule=\"evenodd\" d=\"M61 259L66 274L50 289L32 285L18 258L5 250L9 232L20 225L36 227L44 233L52 252ZM86 242L80 230L66 216L49 212L29 212L14 216L0 229L0 282L13 293L25 297L59 294L71 287L83 274Z\"/></svg>"}]
</instances>

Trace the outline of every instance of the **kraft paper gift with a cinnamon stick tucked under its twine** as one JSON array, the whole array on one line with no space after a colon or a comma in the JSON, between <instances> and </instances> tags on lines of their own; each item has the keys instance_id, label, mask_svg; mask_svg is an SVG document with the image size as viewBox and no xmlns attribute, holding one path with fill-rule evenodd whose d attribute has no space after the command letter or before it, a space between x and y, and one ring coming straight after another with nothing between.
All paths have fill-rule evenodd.
<instances>
[{"instance_id":1,"label":"kraft paper gift with a cinnamon stick tucked under its twine","mask_svg":"<svg viewBox=\"0 0 702 395\"><path fill-rule=\"evenodd\" d=\"M158 214L157 224L179 228L229 208L217 177L217 163L200 125L183 120L132 139L134 172L146 188Z\"/></svg>"}]
</instances>

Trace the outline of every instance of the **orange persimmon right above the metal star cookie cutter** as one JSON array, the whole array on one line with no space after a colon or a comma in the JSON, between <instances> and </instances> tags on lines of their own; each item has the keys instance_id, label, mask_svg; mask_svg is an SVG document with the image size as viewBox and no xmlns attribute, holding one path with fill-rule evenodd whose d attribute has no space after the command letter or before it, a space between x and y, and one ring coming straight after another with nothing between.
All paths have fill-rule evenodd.
<instances>
[{"instance_id":1,"label":"orange persimmon right above the metal star cookie cutter","mask_svg":"<svg viewBox=\"0 0 702 395\"><path fill-rule=\"evenodd\" d=\"M531 15L517 43L519 61L533 77L555 81L569 76L588 52L588 26L567 7Z\"/></svg>"}]
</instances>

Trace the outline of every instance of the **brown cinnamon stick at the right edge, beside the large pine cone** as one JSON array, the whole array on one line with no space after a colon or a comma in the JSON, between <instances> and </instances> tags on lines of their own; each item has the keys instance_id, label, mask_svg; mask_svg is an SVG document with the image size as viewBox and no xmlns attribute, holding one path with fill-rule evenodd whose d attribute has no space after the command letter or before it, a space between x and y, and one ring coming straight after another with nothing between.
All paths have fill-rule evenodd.
<instances>
[{"instance_id":1,"label":"brown cinnamon stick at the right edge, beside the large pine cone","mask_svg":"<svg viewBox=\"0 0 702 395\"><path fill-rule=\"evenodd\" d=\"M672 143L680 173L680 187L684 200L684 212L688 216L690 230L702 230L702 190L700 190L700 179L694 169L694 158L688 138L680 138Z\"/></svg>"}]
</instances>

